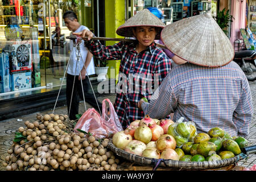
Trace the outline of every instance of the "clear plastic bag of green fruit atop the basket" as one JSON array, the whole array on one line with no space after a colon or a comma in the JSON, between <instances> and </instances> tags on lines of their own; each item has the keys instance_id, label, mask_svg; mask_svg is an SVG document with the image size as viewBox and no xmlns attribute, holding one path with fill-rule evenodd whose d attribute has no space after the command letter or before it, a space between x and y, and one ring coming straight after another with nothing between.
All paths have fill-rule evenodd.
<instances>
[{"instance_id":1,"label":"clear plastic bag of green fruit atop the basket","mask_svg":"<svg viewBox=\"0 0 256 182\"><path fill-rule=\"evenodd\" d=\"M175 138L177 147L182 147L184 143L193 141L193 138L197 135L195 123L192 121L183 122L183 120L184 118L181 117L168 128L168 134Z\"/></svg>"}]
</instances>

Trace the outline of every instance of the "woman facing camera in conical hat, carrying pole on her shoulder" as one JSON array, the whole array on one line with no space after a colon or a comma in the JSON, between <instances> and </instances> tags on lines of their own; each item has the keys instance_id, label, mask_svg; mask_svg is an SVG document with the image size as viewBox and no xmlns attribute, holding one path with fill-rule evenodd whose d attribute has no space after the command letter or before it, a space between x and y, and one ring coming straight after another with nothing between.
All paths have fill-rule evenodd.
<instances>
[{"instance_id":1,"label":"woman facing camera in conical hat, carrying pole on her shoulder","mask_svg":"<svg viewBox=\"0 0 256 182\"><path fill-rule=\"evenodd\" d=\"M88 36L86 47L97 59L121 60L114 107L123 128L136 119L144 118L137 102L143 97L150 100L156 87L171 70L170 59L154 43L154 39L160 38L164 26L159 18L144 9L117 28L118 35L134 36L136 40L133 43L118 42L104 46L98 40L92 40L93 33L88 30L73 33Z\"/></svg>"}]
</instances>

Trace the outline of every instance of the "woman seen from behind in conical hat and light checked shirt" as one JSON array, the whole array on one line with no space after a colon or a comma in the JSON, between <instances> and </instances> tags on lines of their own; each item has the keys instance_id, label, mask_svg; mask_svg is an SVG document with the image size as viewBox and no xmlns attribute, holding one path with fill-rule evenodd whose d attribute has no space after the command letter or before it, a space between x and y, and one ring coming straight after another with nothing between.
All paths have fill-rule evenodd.
<instances>
[{"instance_id":1,"label":"woman seen from behind in conical hat and light checked shirt","mask_svg":"<svg viewBox=\"0 0 256 182\"><path fill-rule=\"evenodd\" d=\"M253 114L249 83L234 63L228 37L209 14L179 20L163 28L161 39L174 53L172 68L149 103L138 107L151 118L174 113L174 121L193 121L198 133L220 127L247 137Z\"/></svg>"}]
</instances>

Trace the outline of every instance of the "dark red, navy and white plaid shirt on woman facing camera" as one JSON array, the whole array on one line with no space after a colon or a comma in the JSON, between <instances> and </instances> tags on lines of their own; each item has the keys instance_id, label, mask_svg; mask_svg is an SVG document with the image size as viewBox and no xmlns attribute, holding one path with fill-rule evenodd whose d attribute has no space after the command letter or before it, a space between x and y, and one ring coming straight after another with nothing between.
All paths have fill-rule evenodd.
<instances>
[{"instance_id":1,"label":"dark red, navy and white plaid shirt on woman facing camera","mask_svg":"<svg viewBox=\"0 0 256 182\"><path fill-rule=\"evenodd\" d=\"M130 122L144 117L137 102L142 97L149 100L171 71L171 60L155 43L140 53L135 51L136 45L137 43L119 42L113 46L103 46L98 40L86 42L86 47L97 59L121 60L114 107L124 128Z\"/></svg>"}]
</instances>

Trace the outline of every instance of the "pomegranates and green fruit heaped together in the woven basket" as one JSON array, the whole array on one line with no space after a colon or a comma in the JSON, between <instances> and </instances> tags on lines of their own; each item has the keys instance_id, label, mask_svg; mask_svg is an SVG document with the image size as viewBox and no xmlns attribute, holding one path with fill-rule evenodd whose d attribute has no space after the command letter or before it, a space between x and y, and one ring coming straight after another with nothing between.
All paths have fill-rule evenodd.
<instances>
[{"instance_id":1,"label":"pomegranates and green fruit heaped together in the woven basket","mask_svg":"<svg viewBox=\"0 0 256 182\"><path fill-rule=\"evenodd\" d=\"M193 122L170 119L136 120L125 131L115 133L113 144L131 154L155 159L184 162L214 161L241 153L248 142L243 137L230 137L219 127L198 133Z\"/></svg>"}]
</instances>

